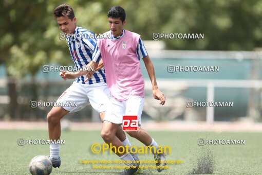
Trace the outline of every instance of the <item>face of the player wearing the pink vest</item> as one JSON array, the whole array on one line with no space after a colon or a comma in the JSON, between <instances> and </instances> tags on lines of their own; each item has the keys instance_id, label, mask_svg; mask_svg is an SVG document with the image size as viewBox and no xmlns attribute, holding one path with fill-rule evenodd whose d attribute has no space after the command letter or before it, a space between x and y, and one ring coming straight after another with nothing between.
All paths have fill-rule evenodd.
<instances>
[{"instance_id":1,"label":"face of the player wearing the pink vest","mask_svg":"<svg viewBox=\"0 0 262 175\"><path fill-rule=\"evenodd\" d=\"M123 31L126 20L122 22L119 18L108 17L109 27L114 37L120 36Z\"/></svg>"}]
</instances>

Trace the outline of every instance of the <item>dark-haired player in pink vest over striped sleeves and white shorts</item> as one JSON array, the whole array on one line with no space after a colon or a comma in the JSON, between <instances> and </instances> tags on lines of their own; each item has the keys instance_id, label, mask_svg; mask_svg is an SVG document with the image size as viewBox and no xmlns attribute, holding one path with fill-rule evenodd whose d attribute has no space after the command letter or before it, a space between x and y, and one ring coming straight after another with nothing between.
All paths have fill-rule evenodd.
<instances>
[{"instance_id":1,"label":"dark-haired player in pink vest over striped sleeves and white shorts","mask_svg":"<svg viewBox=\"0 0 262 175\"><path fill-rule=\"evenodd\" d=\"M121 143L118 142L115 134L119 124L122 124L123 115L137 115L139 126L141 125L144 103L144 80L140 69L141 58L152 82L154 98L160 100L160 104L163 105L165 97L158 89L154 66L148 57L140 35L123 28L126 23L124 9L119 6L112 7L107 16L110 27L110 31L107 33L111 34L111 39L98 40L92 62L89 65L97 67L102 57L107 85L111 92L111 103L104 117L101 136L106 143L112 143L118 147ZM83 71L80 75L84 74L87 74L86 80L88 81L92 72ZM153 146L156 150L158 149L157 143L145 130L126 132L146 146ZM129 154L121 155L120 158L127 161L133 160ZM166 165L164 163L165 155L164 153L154 153L154 158L157 161L157 166L160 166L157 170L161 172L162 166ZM139 172L139 167L136 164L133 165L130 169L125 169L123 174Z\"/></svg>"}]
</instances>

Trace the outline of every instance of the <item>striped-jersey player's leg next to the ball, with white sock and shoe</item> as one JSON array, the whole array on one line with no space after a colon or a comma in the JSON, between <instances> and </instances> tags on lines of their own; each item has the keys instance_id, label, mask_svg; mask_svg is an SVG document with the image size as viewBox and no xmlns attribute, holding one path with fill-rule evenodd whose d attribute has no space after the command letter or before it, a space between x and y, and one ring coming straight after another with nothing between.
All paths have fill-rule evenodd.
<instances>
[{"instance_id":1,"label":"striped-jersey player's leg next to the ball, with white sock and shoe","mask_svg":"<svg viewBox=\"0 0 262 175\"><path fill-rule=\"evenodd\" d=\"M69 111L65 110L62 107L53 107L51 111L47 114L48 121L48 134L51 141L58 141L61 136L61 124L60 120ZM60 167L61 160L59 156L60 145L59 144L50 144L50 160L54 168Z\"/></svg>"}]
</instances>

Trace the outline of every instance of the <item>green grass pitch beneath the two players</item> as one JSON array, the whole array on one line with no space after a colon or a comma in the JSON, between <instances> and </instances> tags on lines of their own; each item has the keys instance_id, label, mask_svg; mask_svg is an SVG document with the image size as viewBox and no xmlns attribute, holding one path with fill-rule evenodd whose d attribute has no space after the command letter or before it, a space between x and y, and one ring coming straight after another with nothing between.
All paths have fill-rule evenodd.
<instances>
[{"instance_id":1,"label":"green grass pitch beneath the two players","mask_svg":"<svg viewBox=\"0 0 262 175\"><path fill-rule=\"evenodd\" d=\"M158 145L170 146L171 154L167 160L182 160L182 164L169 165L158 173L156 169L141 169L141 174L188 174L197 166L197 161L208 150L214 155L214 174L261 174L262 139L261 133L239 132L171 132L149 131ZM47 131L39 130L0 130L0 174L30 174L28 165L35 155L48 155L48 145L18 146L17 139L47 139ZM197 144L199 138L205 139L245 139L245 145L204 145ZM80 164L80 160L119 160L109 151L102 154L91 152L93 143L103 143L99 131L63 131L61 139L61 167L53 168L51 174L119 174L122 169L93 169L90 164ZM129 137L133 146L142 146ZM153 160L151 154L140 154L140 160ZM101 164L100 164L101 165ZM154 164L141 164L154 165Z\"/></svg>"}]
</instances>

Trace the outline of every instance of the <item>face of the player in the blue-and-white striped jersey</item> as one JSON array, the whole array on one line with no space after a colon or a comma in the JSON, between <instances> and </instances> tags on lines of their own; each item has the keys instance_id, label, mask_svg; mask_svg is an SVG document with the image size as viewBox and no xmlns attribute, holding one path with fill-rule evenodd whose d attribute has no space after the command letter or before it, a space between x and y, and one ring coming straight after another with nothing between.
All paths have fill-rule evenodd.
<instances>
[{"instance_id":1,"label":"face of the player in the blue-and-white striped jersey","mask_svg":"<svg viewBox=\"0 0 262 175\"><path fill-rule=\"evenodd\" d=\"M76 29L77 19L74 17L72 20L69 19L67 16L60 16L57 17L57 22L59 28L64 33L73 33L74 29Z\"/></svg>"}]
</instances>

